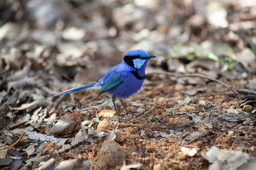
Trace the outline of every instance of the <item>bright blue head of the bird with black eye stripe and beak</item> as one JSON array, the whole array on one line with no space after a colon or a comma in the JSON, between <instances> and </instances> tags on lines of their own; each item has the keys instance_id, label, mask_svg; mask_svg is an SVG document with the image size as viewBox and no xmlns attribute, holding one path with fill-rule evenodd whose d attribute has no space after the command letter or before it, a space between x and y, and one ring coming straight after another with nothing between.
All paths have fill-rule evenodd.
<instances>
[{"instance_id":1,"label":"bright blue head of the bird with black eye stripe and beak","mask_svg":"<svg viewBox=\"0 0 256 170\"><path fill-rule=\"evenodd\" d=\"M142 65L154 55L148 55L144 50L132 50L124 56L124 62L135 69L140 69Z\"/></svg>"}]
</instances>

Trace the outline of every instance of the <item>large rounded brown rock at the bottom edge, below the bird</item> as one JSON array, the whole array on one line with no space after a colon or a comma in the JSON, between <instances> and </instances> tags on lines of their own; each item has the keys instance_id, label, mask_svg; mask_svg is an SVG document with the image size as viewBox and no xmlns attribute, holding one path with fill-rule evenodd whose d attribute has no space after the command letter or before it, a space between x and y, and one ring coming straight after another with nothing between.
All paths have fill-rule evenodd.
<instances>
[{"instance_id":1,"label":"large rounded brown rock at the bottom edge, below the bird","mask_svg":"<svg viewBox=\"0 0 256 170\"><path fill-rule=\"evenodd\" d=\"M124 150L114 140L106 140L97 154L97 163L103 169L114 169L125 162Z\"/></svg>"}]
</instances>

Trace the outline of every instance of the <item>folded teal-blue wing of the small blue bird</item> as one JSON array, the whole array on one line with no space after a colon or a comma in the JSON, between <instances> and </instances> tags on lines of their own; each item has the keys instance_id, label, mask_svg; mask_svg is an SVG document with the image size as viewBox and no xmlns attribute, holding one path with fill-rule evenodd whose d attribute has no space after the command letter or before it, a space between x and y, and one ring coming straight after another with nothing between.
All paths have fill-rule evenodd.
<instances>
[{"instance_id":1,"label":"folded teal-blue wing of the small blue bird","mask_svg":"<svg viewBox=\"0 0 256 170\"><path fill-rule=\"evenodd\" d=\"M105 79L104 83L101 85L102 88L100 89L98 96L104 94L106 91L109 91L110 89L113 89L119 84L122 84L123 80L124 77L119 77L116 73L110 74L110 76L108 76Z\"/></svg>"}]
</instances>

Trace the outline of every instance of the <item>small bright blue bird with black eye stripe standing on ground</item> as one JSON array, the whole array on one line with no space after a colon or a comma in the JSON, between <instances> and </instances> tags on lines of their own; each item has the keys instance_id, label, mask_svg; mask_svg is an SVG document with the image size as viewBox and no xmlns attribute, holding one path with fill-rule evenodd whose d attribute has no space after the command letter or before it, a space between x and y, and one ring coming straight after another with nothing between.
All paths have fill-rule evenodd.
<instances>
[{"instance_id":1,"label":"small bright blue bird with black eye stripe standing on ground","mask_svg":"<svg viewBox=\"0 0 256 170\"><path fill-rule=\"evenodd\" d=\"M122 106L124 106L124 101L122 101L122 99L136 94L137 91L141 89L144 81L146 64L149 59L153 57L156 56L148 55L144 50L131 50L124 56L121 64L112 67L99 81L63 91L60 94L70 94L74 91L80 91L90 87L101 87L97 97L105 92L110 94L118 119L120 121L126 121L126 119L119 117L115 100L118 98L121 101ZM56 94L55 96L60 94ZM127 114L129 113L125 106L124 110Z\"/></svg>"}]
</instances>

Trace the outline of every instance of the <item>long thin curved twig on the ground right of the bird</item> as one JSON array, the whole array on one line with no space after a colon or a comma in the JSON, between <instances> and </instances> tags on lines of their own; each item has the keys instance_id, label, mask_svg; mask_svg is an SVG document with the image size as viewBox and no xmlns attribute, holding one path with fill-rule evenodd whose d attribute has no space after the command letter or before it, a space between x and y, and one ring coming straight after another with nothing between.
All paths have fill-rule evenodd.
<instances>
[{"instance_id":1,"label":"long thin curved twig on the ground right of the bird","mask_svg":"<svg viewBox=\"0 0 256 170\"><path fill-rule=\"evenodd\" d=\"M208 79L211 81L216 81L219 84L225 86L225 88L229 89L230 91L233 91L234 94L237 94L238 96L240 96L240 94L238 93L238 91L236 91L233 87L228 86L227 84L223 83L223 81L220 81L218 79L214 79L211 77L207 77L203 74L173 74L173 73L169 73L169 72L154 72L152 74L165 74L165 75L169 75L171 77L176 77L176 78L181 78L181 77L201 77L203 79Z\"/></svg>"}]
</instances>

